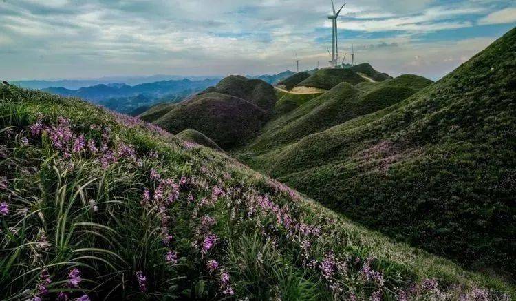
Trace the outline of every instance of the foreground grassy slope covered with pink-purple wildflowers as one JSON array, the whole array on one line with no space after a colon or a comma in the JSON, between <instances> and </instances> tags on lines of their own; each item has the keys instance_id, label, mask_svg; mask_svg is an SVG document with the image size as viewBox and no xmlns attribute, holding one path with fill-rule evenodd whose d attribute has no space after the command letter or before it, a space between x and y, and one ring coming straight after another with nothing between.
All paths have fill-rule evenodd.
<instances>
[{"instance_id":1,"label":"foreground grassy slope covered with pink-purple wildflowers","mask_svg":"<svg viewBox=\"0 0 516 301\"><path fill-rule=\"evenodd\" d=\"M2 300L516 296L77 99L3 85L0 136Z\"/></svg>"}]
</instances>

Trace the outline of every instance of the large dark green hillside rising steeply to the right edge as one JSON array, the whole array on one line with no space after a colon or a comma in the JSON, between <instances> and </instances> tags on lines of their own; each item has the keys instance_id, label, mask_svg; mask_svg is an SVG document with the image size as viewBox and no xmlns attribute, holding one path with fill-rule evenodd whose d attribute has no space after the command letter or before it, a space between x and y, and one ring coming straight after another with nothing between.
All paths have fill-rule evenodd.
<instances>
[{"instance_id":1,"label":"large dark green hillside rising steeply to the right edge","mask_svg":"<svg viewBox=\"0 0 516 301\"><path fill-rule=\"evenodd\" d=\"M368 227L514 276L515 72L513 29L407 100L250 162Z\"/></svg>"}]
</instances>

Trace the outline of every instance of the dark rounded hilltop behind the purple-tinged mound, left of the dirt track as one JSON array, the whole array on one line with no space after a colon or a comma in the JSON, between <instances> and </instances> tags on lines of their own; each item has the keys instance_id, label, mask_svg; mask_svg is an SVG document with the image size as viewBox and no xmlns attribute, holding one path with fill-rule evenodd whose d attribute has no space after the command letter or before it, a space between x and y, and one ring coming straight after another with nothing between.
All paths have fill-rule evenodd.
<instances>
[{"instance_id":1,"label":"dark rounded hilltop behind the purple-tinged mound, left of the dirt track","mask_svg":"<svg viewBox=\"0 0 516 301\"><path fill-rule=\"evenodd\" d=\"M272 110L276 103L272 85L260 79L247 79L239 75L231 75L219 81L215 92L244 98L266 111Z\"/></svg>"}]
</instances>

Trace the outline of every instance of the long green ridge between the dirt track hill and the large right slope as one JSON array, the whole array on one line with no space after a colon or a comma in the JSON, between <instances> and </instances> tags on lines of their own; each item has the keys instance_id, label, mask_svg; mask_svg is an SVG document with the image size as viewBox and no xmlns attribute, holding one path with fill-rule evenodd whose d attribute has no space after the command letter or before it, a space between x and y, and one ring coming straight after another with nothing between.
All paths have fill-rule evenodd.
<instances>
[{"instance_id":1,"label":"long green ridge between the dirt track hill and the large right slope","mask_svg":"<svg viewBox=\"0 0 516 301\"><path fill-rule=\"evenodd\" d=\"M413 87L422 87L431 81L420 76L402 75L383 83L360 83L355 87L349 83L340 83L266 125L248 150L270 152L271 149L310 134L394 105L418 91L408 87L409 83Z\"/></svg>"}]
</instances>

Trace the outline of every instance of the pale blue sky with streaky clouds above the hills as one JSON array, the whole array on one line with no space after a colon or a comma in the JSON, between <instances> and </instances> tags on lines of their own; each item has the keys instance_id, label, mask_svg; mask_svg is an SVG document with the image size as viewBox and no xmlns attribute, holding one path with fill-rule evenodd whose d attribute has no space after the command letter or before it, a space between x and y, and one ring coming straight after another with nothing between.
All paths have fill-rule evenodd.
<instances>
[{"instance_id":1,"label":"pale blue sky with streaky clouds above the hills","mask_svg":"<svg viewBox=\"0 0 516 301\"><path fill-rule=\"evenodd\" d=\"M0 0L0 77L274 74L295 71L295 54L301 70L325 67L331 10L330 0ZM353 45L355 63L439 79L515 25L512 0L348 0L339 52Z\"/></svg>"}]
</instances>

